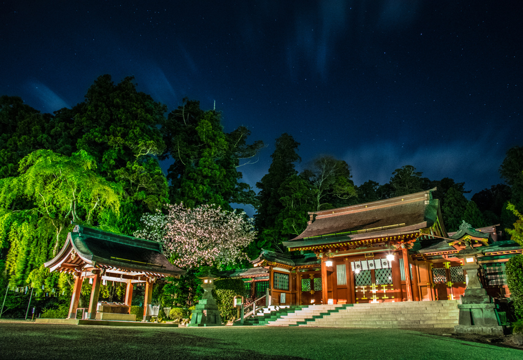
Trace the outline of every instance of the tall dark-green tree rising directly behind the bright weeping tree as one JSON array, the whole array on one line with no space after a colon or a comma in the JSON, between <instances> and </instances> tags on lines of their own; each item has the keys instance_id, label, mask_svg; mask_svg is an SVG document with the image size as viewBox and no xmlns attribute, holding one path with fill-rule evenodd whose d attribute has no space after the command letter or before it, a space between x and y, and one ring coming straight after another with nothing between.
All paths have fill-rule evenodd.
<instances>
[{"instance_id":1,"label":"tall dark-green tree rising directly behind the bright weeping tree","mask_svg":"<svg viewBox=\"0 0 523 360\"><path fill-rule=\"evenodd\" d=\"M126 77L115 85L110 75L100 76L85 102L61 114L74 120L77 148L94 156L99 174L123 188L116 226L126 234L137 230L142 213L168 200L167 181L156 160L165 149L159 128L167 107L138 92L133 79Z\"/></svg>"}]
</instances>

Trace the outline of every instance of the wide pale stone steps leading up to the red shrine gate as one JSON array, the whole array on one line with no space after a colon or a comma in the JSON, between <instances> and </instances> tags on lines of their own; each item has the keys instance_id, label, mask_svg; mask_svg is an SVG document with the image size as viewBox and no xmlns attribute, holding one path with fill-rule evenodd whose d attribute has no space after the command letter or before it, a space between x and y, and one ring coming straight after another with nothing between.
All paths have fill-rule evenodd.
<instances>
[{"instance_id":1,"label":"wide pale stone steps leading up to the red shrine gate","mask_svg":"<svg viewBox=\"0 0 523 360\"><path fill-rule=\"evenodd\" d=\"M459 300L291 306L254 317L253 325L332 328L453 328ZM249 322L250 322L249 321Z\"/></svg>"}]
</instances>

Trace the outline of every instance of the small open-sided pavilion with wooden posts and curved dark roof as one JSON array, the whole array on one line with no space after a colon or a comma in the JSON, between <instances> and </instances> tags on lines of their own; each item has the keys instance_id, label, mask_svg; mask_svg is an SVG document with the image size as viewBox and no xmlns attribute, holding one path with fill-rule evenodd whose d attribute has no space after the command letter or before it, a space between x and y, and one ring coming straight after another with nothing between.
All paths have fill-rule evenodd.
<instances>
[{"instance_id":1,"label":"small open-sided pavilion with wooden posts and curved dark roof","mask_svg":"<svg viewBox=\"0 0 523 360\"><path fill-rule=\"evenodd\" d=\"M132 290L135 284L145 284L144 319L151 304L156 279L179 278L185 271L169 263L162 254L161 244L126 235L76 225L67 235L63 248L44 265L52 271L74 274L74 288L69 319L76 319L78 301L84 280L92 283L85 319L132 320L130 314ZM100 285L106 282L126 283L123 303L99 303Z\"/></svg>"}]
</instances>

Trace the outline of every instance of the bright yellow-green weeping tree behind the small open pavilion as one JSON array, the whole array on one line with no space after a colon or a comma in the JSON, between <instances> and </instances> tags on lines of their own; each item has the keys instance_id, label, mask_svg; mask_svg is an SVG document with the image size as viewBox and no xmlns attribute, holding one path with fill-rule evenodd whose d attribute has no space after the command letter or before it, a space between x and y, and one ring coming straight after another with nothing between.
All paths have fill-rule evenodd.
<instances>
[{"instance_id":1,"label":"bright yellow-green weeping tree behind the small open pavilion","mask_svg":"<svg viewBox=\"0 0 523 360\"><path fill-rule=\"evenodd\" d=\"M72 156L37 150L20 161L18 176L0 179L0 248L8 248L12 283L69 284L49 276L43 263L63 245L71 221L110 228L118 218L121 188L95 171L83 150Z\"/></svg>"}]
</instances>

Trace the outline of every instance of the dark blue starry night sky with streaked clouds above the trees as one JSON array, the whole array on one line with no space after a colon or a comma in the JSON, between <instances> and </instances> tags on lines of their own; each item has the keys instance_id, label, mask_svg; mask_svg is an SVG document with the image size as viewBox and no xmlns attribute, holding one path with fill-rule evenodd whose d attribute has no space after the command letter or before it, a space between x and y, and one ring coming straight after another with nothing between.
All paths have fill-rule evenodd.
<instances>
[{"instance_id":1,"label":"dark blue starry night sky with streaked clouds above the trees","mask_svg":"<svg viewBox=\"0 0 523 360\"><path fill-rule=\"evenodd\" d=\"M410 164L470 195L523 145L519 1L0 4L1 95L52 113L108 73L169 110L215 100L226 131L268 145L241 168L251 185L283 132L301 143L298 170L331 154L356 185L383 184Z\"/></svg>"}]
</instances>

